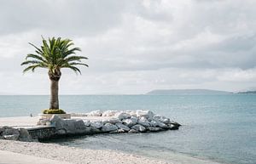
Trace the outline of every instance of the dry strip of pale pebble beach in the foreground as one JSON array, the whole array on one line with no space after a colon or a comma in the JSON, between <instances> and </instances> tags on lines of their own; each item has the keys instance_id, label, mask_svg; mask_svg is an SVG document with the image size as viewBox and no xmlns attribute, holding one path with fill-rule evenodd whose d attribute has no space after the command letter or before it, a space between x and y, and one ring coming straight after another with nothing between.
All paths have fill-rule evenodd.
<instances>
[{"instance_id":1,"label":"dry strip of pale pebble beach in the foreground","mask_svg":"<svg viewBox=\"0 0 256 164\"><path fill-rule=\"evenodd\" d=\"M165 161L156 161L143 156L134 156L111 150L81 150L73 147L61 146L58 144L27 143L8 140L0 141L0 150L26 155L23 156L24 158L30 158L30 156L38 156L55 161L67 161L74 164L168 163ZM0 155L3 156L2 151L0 151ZM0 158L0 163L1 162L3 163L2 158Z\"/></svg>"}]
</instances>

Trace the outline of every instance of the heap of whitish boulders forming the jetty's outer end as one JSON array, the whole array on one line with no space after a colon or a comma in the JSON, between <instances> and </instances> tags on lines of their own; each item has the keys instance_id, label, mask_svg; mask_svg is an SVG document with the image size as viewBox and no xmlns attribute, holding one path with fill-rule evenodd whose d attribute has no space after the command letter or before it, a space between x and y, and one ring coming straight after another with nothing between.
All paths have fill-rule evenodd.
<instances>
[{"instance_id":1,"label":"heap of whitish boulders forming the jetty's outer end","mask_svg":"<svg viewBox=\"0 0 256 164\"><path fill-rule=\"evenodd\" d=\"M86 114L87 116L110 116L108 120L90 122L86 124L96 127L103 133L146 133L160 132L164 130L177 130L180 124L171 121L166 116L155 115L150 110L95 110Z\"/></svg>"}]
</instances>

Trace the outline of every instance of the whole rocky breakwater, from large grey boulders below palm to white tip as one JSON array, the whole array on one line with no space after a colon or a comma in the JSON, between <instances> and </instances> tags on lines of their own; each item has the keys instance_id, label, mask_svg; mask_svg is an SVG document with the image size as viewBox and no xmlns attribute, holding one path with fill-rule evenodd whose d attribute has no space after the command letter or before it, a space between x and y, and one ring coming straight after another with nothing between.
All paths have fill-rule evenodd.
<instances>
[{"instance_id":1,"label":"whole rocky breakwater, from large grey boulders below palm to white tip","mask_svg":"<svg viewBox=\"0 0 256 164\"><path fill-rule=\"evenodd\" d=\"M80 119L61 119L52 116L49 120L41 120L39 125L52 125L56 135L94 134L94 133L147 133L164 130L177 130L179 123L166 116L155 115L149 110L135 111L91 111L84 114L73 114ZM89 117L90 116L90 117ZM108 119L104 119L108 116ZM90 120L91 117L100 121Z\"/></svg>"}]
</instances>

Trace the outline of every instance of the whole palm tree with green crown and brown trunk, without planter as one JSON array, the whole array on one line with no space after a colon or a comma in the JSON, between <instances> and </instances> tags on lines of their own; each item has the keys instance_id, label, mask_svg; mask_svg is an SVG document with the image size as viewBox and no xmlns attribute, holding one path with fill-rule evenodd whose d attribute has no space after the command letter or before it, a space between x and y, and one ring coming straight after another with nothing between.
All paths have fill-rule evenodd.
<instances>
[{"instance_id":1,"label":"whole palm tree with green crown and brown trunk, without planter","mask_svg":"<svg viewBox=\"0 0 256 164\"><path fill-rule=\"evenodd\" d=\"M36 48L35 54L27 54L26 60L21 65L28 65L24 69L26 71L35 71L36 68L48 69L48 76L50 80L50 102L49 110L59 109L59 80L61 78L61 68L69 68L75 73L80 73L77 65L84 65L81 59L88 59L84 56L75 55L77 51L81 51L80 48L71 48L73 41L70 39L61 39L58 37L49 38L47 42L44 37L43 44L40 48L30 43L32 47Z\"/></svg>"}]
</instances>

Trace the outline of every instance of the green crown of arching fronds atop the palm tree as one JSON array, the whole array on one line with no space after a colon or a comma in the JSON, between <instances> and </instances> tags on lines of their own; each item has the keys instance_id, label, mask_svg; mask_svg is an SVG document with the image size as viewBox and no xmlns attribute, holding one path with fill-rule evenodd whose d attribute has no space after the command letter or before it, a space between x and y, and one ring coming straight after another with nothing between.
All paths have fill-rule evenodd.
<instances>
[{"instance_id":1,"label":"green crown of arching fronds atop the palm tree","mask_svg":"<svg viewBox=\"0 0 256 164\"><path fill-rule=\"evenodd\" d=\"M51 72L61 71L61 68L69 68L76 73L81 71L74 65L84 65L82 59L88 59L84 56L74 55L80 52L80 48L72 48L73 41L70 39L61 39L61 37L52 37L48 40L42 37L42 46L38 48L30 43L32 47L36 48L36 54L27 54L26 60L21 65L29 65L24 72L34 71L38 67L48 68Z\"/></svg>"}]
</instances>

